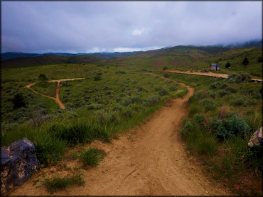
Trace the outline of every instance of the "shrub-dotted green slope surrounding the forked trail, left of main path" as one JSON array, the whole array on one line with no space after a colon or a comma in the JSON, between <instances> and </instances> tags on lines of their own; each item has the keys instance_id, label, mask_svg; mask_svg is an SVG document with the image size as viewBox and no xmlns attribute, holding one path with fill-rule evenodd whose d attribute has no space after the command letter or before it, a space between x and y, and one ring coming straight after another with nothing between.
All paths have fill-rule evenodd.
<instances>
[{"instance_id":1,"label":"shrub-dotted green slope surrounding the forked trail, left of main path","mask_svg":"<svg viewBox=\"0 0 263 197\"><path fill-rule=\"evenodd\" d=\"M14 77L14 73L17 73L17 70L19 72ZM1 95L3 98L1 101L3 107L1 118L2 145L8 145L23 136L25 131L21 131L19 125L22 125L22 128L27 128L26 130L28 131L26 131L27 134L25 136L32 140L36 139L33 137L35 134L32 134L35 132L35 128L31 128L28 125L36 112L41 114L43 121L46 119L55 123L57 118L63 122L72 121L76 118L87 120L87 117L89 119L92 119L92 117L97 119L96 111L103 113L104 109L112 111L113 108L119 108L121 110L119 116L121 119L127 120L118 123L115 130L125 130L139 123L156 108L161 107L163 101L181 95L182 90L184 94L186 93L186 88L172 81L156 78L151 74L131 69L122 69L124 74L117 74L119 70L114 67L96 67L92 64L81 66L69 64L66 67L64 65L47 65L31 69L3 69L3 83L1 84L4 90ZM102 74L102 79L95 81L94 77L98 73ZM63 83L60 90L60 98L67 108L65 111L61 111L57 103L52 99L34 94L24 88L29 81L36 81L39 74L45 74L48 79L73 77L85 77L85 79ZM26 77L28 82L24 80ZM167 95L159 96L160 90L154 90L160 86L166 86L168 90ZM175 89L170 91L170 87ZM51 86L50 88L53 89ZM48 91L43 92L48 93ZM17 93L23 94L26 100L26 108L13 109L11 99ZM161 101L151 106L151 101L149 100L151 95L156 95L157 99L159 98ZM131 101L131 98L134 100ZM127 104L122 104L124 102ZM14 135L14 133L19 134Z\"/></svg>"}]
</instances>

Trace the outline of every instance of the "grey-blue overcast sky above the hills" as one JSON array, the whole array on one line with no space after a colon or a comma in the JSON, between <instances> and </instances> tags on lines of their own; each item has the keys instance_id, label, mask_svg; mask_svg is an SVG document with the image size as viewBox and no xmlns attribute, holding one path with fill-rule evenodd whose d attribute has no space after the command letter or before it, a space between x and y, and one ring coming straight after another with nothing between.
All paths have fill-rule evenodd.
<instances>
[{"instance_id":1,"label":"grey-blue overcast sky above the hills","mask_svg":"<svg viewBox=\"0 0 263 197\"><path fill-rule=\"evenodd\" d=\"M261 1L1 1L1 52L124 52L261 38Z\"/></svg>"}]
</instances>

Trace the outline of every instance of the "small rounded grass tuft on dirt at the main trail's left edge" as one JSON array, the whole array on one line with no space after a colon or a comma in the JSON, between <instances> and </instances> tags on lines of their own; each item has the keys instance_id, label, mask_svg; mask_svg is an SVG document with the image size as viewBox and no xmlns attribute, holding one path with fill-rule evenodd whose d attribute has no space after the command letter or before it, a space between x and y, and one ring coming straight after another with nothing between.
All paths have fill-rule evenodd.
<instances>
[{"instance_id":1,"label":"small rounded grass tuft on dirt at the main trail's left edge","mask_svg":"<svg viewBox=\"0 0 263 197\"><path fill-rule=\"evenodd\" d=\"M88 150L82 150L80 153L80 160L83 162L83 166L90 165L92 167L97 167L97 165L102 161L104 157L103 150L97 150L90 147Z\"/></svg>"}]
</instances>

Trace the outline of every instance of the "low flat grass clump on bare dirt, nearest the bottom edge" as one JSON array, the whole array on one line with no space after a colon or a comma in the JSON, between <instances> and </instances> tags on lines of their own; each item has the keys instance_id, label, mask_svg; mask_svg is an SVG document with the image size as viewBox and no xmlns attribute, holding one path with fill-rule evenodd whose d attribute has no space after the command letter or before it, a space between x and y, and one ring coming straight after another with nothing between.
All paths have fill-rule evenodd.
<instances>
[{"instance_id":1,"label":"low flat grass clump on bare dirt, nearest the bottom edge","mask_svg":"<svg viewBox=\"0 0 263 197\"><path fill-rule=\"evenodd\" d=\"M85 181L82 179L82 174L73 174L73 176L53 176L51 179L42 181L43 186L49 193L63 190L71 185L84 186Z\"/></svg>"}]
</instances>

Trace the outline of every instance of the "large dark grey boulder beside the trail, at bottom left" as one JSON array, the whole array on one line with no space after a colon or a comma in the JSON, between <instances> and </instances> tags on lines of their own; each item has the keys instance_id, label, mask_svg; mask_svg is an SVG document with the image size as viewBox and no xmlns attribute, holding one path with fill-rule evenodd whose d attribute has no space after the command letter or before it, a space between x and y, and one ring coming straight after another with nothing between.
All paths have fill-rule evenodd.
<instances>
[{"instance_id":1,"label":"large dark grey boulder beside the trail, at bottom left","mask_svg":"<svg viewBox=\"0 0 263 197\"><path fill-rule=\"evenodd\" d=\"M21 186L39 167L35 146L28 139L1 147L1 194Z\"/></svg>"}]
</instances>

